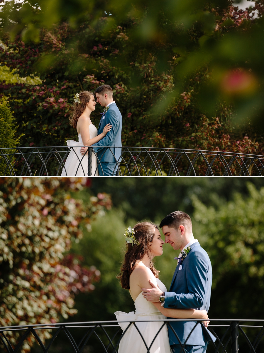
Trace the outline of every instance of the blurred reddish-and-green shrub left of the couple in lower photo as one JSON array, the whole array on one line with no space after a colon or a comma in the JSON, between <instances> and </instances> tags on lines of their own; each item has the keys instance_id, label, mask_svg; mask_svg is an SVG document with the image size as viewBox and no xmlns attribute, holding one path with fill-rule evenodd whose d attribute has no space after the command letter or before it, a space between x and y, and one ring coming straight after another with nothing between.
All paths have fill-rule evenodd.
<instances>
[{"instance_id":1,"label":"blurred reddish-and-green shrub left of the couple in lower photo","mask_svg":"<svg viewBox=\"0 0 264 353\"><path fill-rule=\"evenodd\" d=\"M82 268L78 257L64 257L82 238L80 223L110 206L103 195L83 206L69 191L82 189L78 178L0 179L0 323L55 323L76 314L74 294L93 291L95 267ZM104 201L102 201L104 199ZM79 258L81 260L81 258ZM11 343L19 333L7 333ZM42 340L49 333L39 331ZM29 336L22 353L35 338ZM2 349L2 348L1 348Z\"/></svg>"}]
</instances>

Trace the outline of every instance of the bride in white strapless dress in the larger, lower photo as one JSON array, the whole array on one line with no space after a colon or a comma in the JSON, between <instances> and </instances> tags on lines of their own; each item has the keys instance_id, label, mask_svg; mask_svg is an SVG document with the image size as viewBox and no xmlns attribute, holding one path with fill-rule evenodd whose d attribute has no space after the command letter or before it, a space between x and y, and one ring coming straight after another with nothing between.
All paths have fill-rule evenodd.
<instances>
[{"instance_id":1,"label":"bride in white strapless dress in the larger, lower photo","mask_svg":"<svg viewBox=\"0 0 264 353\"><path fill-rule=\"evenodd\" d=\"M129 322L125 321L134 321L149 347L164 323L162 320L167 317L208 320L205 310L164 308L161 303L151 303L143 297L141 288L152 288L149 280L158 285L162 292L167 292L165 285L159 280L159 271L155 269L152 262L155 256L162 255L164 241L161 239L158 227L151 222L137 223L133 229L129 227L125 235L127 252L118 278L121 280L122 287L129 289L136 311L129 314L122 311L115 312L122 330L124 331L129 325ZM145 322L140 322L144 320ZM146 320L160 320L160 322ZM204 325L207 326L208 322L204 322ZM147 348L134 324L131 324L120 341L118 353L135 352L146 353ZM149 352L171 352L166 324L154 340Z\"/></svg>"}]
</instances>

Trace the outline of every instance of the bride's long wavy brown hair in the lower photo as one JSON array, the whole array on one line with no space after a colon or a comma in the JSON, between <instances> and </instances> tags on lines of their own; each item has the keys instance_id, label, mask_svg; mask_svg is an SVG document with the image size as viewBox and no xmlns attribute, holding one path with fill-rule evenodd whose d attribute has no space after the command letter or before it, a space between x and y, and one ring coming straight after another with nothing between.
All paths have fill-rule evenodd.
<instances>
[{"instance_id":1,"label":"bride's long wavy brown hair in the lower photo","mask_svg":"<svg viewBox=\"0 0 264 353\"><path fill-rule=\"evenodd\" d=\"M149 243L152 242L155 229L159 229L152 222L139 222L134 226L135 237L140 245L127 244L127 252L121 266L121 273L117 276L121 281L121 286L124 289L129 289L129 277L133 272L137 263L142 260L143 256L148 252ZM151 271L156 278L159 278L159 271L155 269L153 262L149 261Z\"/></svg>"}]
</instances>

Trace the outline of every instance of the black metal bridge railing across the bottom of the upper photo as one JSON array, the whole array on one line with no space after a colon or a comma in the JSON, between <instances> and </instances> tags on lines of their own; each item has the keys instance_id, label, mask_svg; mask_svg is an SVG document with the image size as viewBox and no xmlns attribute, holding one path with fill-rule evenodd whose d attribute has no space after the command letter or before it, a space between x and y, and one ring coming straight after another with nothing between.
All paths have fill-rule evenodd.
<instances>
[{"instance_id":1,"label":"black metal bridge railing across the bottom of the upper photo","mask_svg":"<svg viewBox=\"0 0 264 353\"><path fill-rule=\"evenodd\" d=\"M119 148L121 156L116 158L113 148L104 148L98 157L89 148L84 156L80 147L23 147L0 149L0 175L105 175L102 168L104 155L111 151L115 163L113 175L175 175L175 176L261 176L264 175L264 156L236 152L219 152L172 148ZM74 172L67 170L65 163L73 151L77 165ZM95 163L95 165L94 165ZM66 164L67 165L67 164Z\"/></svg>"}]
</instances>

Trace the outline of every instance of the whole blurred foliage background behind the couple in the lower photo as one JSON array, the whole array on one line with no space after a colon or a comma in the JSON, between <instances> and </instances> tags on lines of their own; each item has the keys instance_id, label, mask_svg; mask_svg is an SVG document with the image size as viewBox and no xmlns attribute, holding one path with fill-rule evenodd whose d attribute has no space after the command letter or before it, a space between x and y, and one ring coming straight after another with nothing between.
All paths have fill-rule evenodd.
<instances>
[{"instance_id":1,"label":"whole blurred foliage background behind the couple in the lower photo","mask_svg":"<svg viewBox=\"0 0 264 353\"><path fill-rule=\"evenodd\" d=\"M2 326L113 320L117 310L133 311L116 279L124 230L140 220L159 224L174 210L191 216L211 259L209 317L263 319L262 178L5 177L0 196ZM167 288L177 255L165 244L155 259ZM55 343L54 352L70 349L64 336Z\"/></svg>"}]
</instances>

